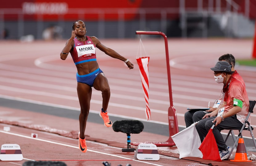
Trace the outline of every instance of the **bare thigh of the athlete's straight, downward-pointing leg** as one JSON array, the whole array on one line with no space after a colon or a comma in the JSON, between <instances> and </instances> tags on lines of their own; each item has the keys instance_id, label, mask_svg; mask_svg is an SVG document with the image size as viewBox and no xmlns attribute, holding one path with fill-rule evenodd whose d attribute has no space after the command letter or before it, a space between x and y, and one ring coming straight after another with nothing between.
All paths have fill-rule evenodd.
<instances>
[{"instance_id":1,"label":"bare thigh of the athlete's straight, downward-pointing leg","mask_svg":"<svg viewBox=\"0 0 256 166\"><path fill-rule=\"evenodd\" d=\"M89 110L92 97L92 88L84 83L77 82L77 95L81 109Z\"/></svg>"}]
</instances>

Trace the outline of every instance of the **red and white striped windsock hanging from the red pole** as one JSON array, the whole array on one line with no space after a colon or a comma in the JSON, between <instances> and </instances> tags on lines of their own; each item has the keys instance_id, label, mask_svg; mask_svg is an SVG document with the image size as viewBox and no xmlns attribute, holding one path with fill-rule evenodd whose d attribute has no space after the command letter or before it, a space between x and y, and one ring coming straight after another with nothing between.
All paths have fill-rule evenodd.
<instances>
[{"instance_id":1,"label":"red and white striped windsock hanging from the red pole","mask_svg":"<svg viewBox=\"0 0 256 166\"><path fill-rule=\"evenodd\" d=\"M151 113L149 109L149 102L148 102L148 90L149 90L149 84L148 84L148 62L149 62L149 57L139 57L136 58L139 70L140 70L140 77L141 77L141 82L142 82L142 87L144 91L144 97L146 101L146 117L147 120L151 120Z\"/></svg>"}]
</instances>

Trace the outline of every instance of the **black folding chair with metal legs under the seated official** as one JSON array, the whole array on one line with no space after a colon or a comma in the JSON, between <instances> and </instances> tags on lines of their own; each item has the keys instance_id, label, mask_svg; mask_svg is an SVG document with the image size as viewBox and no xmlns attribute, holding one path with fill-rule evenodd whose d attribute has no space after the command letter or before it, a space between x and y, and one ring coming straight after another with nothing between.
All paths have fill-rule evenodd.
<instances>
[{"instance_id":1,"label":"black folding chair with metal legs under the seated official","mask_svg":"<svg viewBox=\"0 0 256 166\"><path fill-rule=\"evenodd\" d=\"M226 141L228 140L228 137L229 137L229 135L230 135L230 133L231 133L232 138L233 138L233 141L234 141L234 145L233 145L232 149L230 150L230 153L229 153L229 156L228 156L227 160L228 160L229 157L231 156L231 154L232 154L232 152L233 152L235 146L237 147L237 143L238 143L239 138L240 138L240 137L243 138L243 136L242 136L242 131L243 131L243 130L248 130L248 131L250 131L250 134L251 134L251 136L252 136L252 140L253 140L254 146L255 146L255 148L256 148L256 142L255 142L254 135L253 135L253 132L252 132L253 127L252 127L251 124L248 122L248 119L249 119L249 117L250 117L250 114L253 113L253 108L254 108L254 105L255 105L256 101L249 101L249 103L250 103L249 113L248 113L248 115L247 115L247 117L246 117L246 119L245 119L245 122L244 122L242 128L234 128L234 129L229 130L229 133L228 133L228 135L227 135L227 137L226 137L226 139L225 139L225 143L226 143ZM246 126L246 124L248 124L248 127ZM235 138L235 135L234 135L233 130L239 130L239 134L238 134L237 138ZM248 156L247 149L246 149L246 154L247 154L247 156Z\"/></svg>"}]
</instances>

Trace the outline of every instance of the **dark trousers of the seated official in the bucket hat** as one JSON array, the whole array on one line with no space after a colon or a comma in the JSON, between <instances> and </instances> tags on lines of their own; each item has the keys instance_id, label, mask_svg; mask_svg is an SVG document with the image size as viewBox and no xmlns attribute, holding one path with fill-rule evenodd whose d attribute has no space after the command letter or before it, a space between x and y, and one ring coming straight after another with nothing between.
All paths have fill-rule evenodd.
<instances>
[{"instance_id":1,"label":"dark trousers of the seated official in the bucket hat","mask_svg":"<svg viewBox=\"0 0 256 166\"><path fill-rule=\"evenodd\" d=\"M216 117L205 118L197 123L196 129L200 138L203 138L207 135L209 129L213 126L212 121L215 118ZM220 124L213 128L213 135L215 137L219 151L227 149L227 145L225 144L223 136L221 135L221 130L239 129L242 128L242 126L243 124L238 121L236 115L234 115L232 117L225 118L224 121L221 121Z\"/></svg>"}]
</instances>

